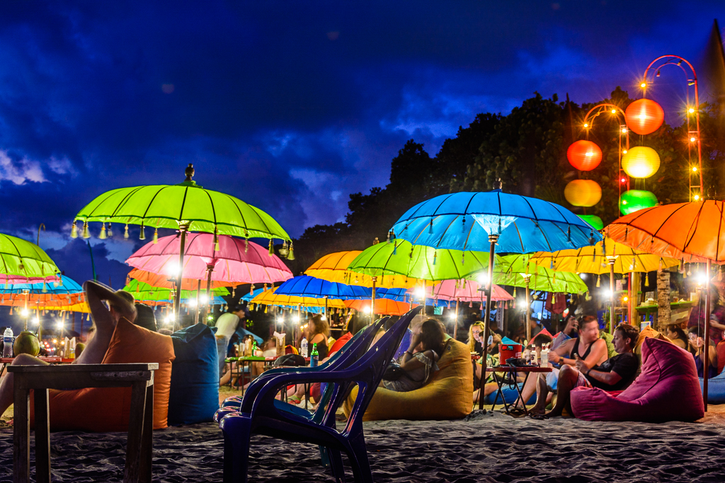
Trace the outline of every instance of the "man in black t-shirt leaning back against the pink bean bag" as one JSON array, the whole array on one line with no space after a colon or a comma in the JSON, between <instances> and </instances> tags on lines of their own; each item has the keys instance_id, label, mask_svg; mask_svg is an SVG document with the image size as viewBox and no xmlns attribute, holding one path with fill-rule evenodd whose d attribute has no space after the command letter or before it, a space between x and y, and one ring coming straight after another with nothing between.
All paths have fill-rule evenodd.
<instances>
[{"instance_id":1,"label":"man in black t-shirt leaning back against the pink bean bag","mask_svg":"<svg viewBox=\"0 0 725 483\"><path fill-rule=\"evenodd\" d=\"M586 361L577 357L574 366L563 366L558 378L556 404L546 416L561 416L566 409L571 413L571 390L574 387L598 387L605 391L625 390L634 381L639 369L639 360L634 355L639 331L629 324L619 324L614 330L612 343L617 355L608 358L602 364L589 366ZM536 416L544 407L539 405L541 394L548 392L544 379L538 380L537 405L531 410ZM540 394L539 394L540 392Z\"/></svg>"}]
</instances>

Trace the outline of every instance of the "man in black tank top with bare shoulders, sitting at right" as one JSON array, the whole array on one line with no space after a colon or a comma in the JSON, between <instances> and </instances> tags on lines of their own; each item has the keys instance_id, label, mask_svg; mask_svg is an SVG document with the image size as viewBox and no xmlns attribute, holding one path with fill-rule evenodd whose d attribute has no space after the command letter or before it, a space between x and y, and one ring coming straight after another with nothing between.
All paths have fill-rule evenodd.
<instances>
[{"instance_id":1,"label":"man in black tank top with bare shoulders, sitting at right","mask_svg":"<svg viewBox=\"0 0 725 483\"><path fill-rule=\"evenodd\" d=\"M558 348L549 352L549 362L559 364L561 369L564 369L565 366L570 368L576 366L578 360L584 361L587 368L591 369L597 364L602 364L607 358L607 343L599 337L597 317L591 315L584 316L584 319L579 322L579 335L576 336L576 339L567 340ZM537 378L537 403L531 411L539 414L544 413L549 392L556 392L557 390L559 375L560 369L556 368L545 377L544 374L539 374ZM524 395L524 398L526 397Z\"/></svg>"}]
</instances>

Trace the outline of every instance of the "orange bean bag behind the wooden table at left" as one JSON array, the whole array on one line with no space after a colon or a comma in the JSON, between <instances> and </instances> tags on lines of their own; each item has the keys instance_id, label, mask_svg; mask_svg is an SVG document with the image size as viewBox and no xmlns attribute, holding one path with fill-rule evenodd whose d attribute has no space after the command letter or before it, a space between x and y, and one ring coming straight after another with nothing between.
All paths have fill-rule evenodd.
<instances>
[{"instance_id":1,"label":"orange bean bag behind the wooden table at left","mask_svg":"<svg viewBox=\"0 0 725 483\"><path fill-rule=\"evenodd\" d=\"M159 364L159 369L154 371L154 429L164 429L168 425L173 360L171 337L121 319L102 361L102 364ZM86 387L49 392L51 431L128 431L130 387ZM30 417L34 421L33 398L30 401Z\"/></svg>"}]
</instances>

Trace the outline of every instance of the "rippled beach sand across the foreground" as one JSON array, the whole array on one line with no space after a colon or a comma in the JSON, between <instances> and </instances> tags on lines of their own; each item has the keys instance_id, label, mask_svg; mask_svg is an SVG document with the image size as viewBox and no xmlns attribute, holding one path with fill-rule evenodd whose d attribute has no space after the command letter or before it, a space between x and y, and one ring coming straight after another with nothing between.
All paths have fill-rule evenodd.
<instances>
[{"instance_id":1,"label":"rippled beach sand across the foreground","mask_svg":"<svg viewBox=\"0 0 725 483\"><path fill-rule=\"evenodd\" d=\"M376 482L723 482L725 406L709 409L692 424L474 411L460 421L368 422L365 439ZM125 440L125 433L51 434L53 481L122 481ZM156 431L154 482L221 482L222 454L216 424ZM334 482L312 445L254 437L249 463L254 482ZM0 481L12 481L10 428L0 429Z\"/></svg>"}]
</instances>

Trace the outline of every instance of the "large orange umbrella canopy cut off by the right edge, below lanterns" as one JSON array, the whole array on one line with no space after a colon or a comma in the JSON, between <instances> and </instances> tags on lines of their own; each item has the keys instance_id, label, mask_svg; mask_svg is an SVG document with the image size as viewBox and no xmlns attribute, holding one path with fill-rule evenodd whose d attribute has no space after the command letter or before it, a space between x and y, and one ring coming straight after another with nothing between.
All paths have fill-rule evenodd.
<instances>
[{"instance_id":1,"label":"large orange umbrella canopy cut off by the right edge, below lanterns","mask_svg":"<svg viewBox=\"0 0 725 483\"><path fill-rule=\"evenodd\" d=\"M645 208L616 219L607 235L631 248L684 261L725 263L723 201Z\"/></svg>"}]
</instances>

